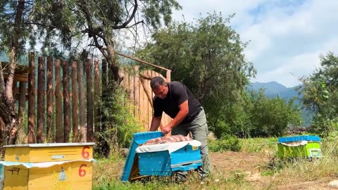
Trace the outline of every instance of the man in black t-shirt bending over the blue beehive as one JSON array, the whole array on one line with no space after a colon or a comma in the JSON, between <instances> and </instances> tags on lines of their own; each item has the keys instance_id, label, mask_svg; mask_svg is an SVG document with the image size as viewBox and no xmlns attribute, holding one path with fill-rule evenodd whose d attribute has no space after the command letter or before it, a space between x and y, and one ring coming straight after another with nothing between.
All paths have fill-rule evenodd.
<instances>
[{"instance_id":1,"label":"man in black t-shirt bending over the blue beehive","mask_svg":"<svg viewBox=\"0 0 338 190\"><path fill-rule=\"evenodd\" d=\"M166 83L162 77L154 77L151 79L150 86L155 94L153 100L154 115L151 120L150 131L158 129L164 111L173 120L163 127L163 134L168 134L171 131L172 135L182 134L187 136L189 132L192 132L192 139L201 142L203 165L199 168L199 176L202 179L207 177L210 172L207 146L208 125L201 103L181 82Z\"/></svg>"}]
</instances>

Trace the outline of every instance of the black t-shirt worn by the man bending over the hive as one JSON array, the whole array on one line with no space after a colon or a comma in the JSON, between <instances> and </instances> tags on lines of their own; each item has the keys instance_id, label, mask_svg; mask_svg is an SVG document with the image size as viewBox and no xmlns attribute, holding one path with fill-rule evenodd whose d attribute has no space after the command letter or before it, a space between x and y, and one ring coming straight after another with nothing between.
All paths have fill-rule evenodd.
<instances>
[{"instance_id":1,"label":"black t-shirt worn by the man bending over the hive","mask_svg":"<svg viewBox=\"0 0 338 190\"><path fill-rule=\"evenodd\" d=\"M195 99L192 92L185 87L181 82L173 81L168 83L168 94L165 99L155 97L153 100L154 105L154 116L162 116L163 111L170 116L175 118L177 113L180 111L178 107L181 103L188 100L189 113L187 117L181 123L189 123L194 120L196 115L201 110L201 103Z\"/></svg>"}]
</instances>

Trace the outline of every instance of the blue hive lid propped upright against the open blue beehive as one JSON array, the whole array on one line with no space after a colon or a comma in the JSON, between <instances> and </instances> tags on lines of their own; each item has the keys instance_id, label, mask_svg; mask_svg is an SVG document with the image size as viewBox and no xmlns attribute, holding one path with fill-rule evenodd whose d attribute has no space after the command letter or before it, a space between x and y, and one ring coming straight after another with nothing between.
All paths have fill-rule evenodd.
<instances>
[{"instance_id":1,"label":"blue hive lid propped upright against the open blue beehive","mask_svg":"<svg viewBox=\"0 0 338 190\"><path fill-rule=\"evenodd\" d=\"M123 174L121 176L122 181L130 181L132 177L138 175L138 162L135 149L140 144L148 141L149 139L155 139L157 137L163 137L162 132L139 132L135 133L130 144L127 160L125 160L125 167L123 168Z\"/></svg>"}]
</instances>

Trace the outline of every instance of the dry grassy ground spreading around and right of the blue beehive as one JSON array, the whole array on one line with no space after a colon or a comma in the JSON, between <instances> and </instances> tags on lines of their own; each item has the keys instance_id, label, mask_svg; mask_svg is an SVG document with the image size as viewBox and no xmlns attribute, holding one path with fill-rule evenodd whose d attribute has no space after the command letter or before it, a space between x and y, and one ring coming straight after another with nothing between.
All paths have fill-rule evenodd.
<instances>
[{"instance_id":1,"label":"dry grassy ground spreading around and right of the blue beehive","mask_svg":"<svg viewBox=\"0 0 338 190\"><path fill-rule=\"evenodd\" d=\"M215 142L211 142L215 143ZM94 164L93 189L328 189L338 177L338 139L323 139L323 158L280 160L277 138L240 139L241 151L210 153L213 173L201 181L192 173L186 182L151 177L121 182L125 158L118 155Z\"/></svg>"}]
</instances>

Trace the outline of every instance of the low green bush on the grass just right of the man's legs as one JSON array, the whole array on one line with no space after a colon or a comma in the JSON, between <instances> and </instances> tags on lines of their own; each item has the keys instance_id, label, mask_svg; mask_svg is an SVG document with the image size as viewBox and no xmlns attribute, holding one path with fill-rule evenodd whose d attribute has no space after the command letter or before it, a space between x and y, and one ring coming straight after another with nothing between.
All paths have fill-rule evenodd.
<instances>
[{"instance_id":1,"label":"low green bush on the grass just right of the man's legs","mask_svg":"<svg viewBox=\"0 0 338 190\"><path fill-rule=\"evenodd\" d=\"M226 135L220 140L209 141L208 148L212 152L223 152L223 151L240 151L241 144L239 139L235 136Z\"/></svg>"}]
</instances>

